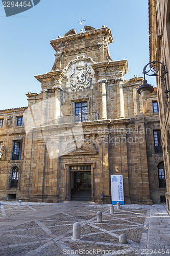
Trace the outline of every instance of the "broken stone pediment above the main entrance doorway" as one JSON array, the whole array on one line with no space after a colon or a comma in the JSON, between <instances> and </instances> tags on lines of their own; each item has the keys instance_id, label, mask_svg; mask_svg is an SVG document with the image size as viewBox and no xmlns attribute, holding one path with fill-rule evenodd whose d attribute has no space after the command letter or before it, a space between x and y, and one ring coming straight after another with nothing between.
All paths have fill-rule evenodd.
<instances>
[{"instance_id":1,"label":"broken stone pediment above the main entrance doorway","mask_svg":"<svg viewBox=\"0 0 170 256\"><path fill-rule=\"evenodd\" d=\"M97 153L98 151L91 140L84 140L84 143L77 143L76 140L72 140L66 145L62 155L91 155Z\"/></svg>"}]
</instances>

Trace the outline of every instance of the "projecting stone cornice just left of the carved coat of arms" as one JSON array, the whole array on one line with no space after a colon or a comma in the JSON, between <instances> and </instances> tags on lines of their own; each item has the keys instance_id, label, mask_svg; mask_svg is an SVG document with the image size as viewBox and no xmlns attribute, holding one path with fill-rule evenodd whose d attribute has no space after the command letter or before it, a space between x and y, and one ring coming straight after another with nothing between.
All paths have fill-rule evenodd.
<instances>
[{"instance_id":1,"label":"projecting stone cornice just left of the carved coat of arms","mask_svg":"<svg viewBox=\"0 0 170 256\"><path fill-rule=\"evenodd\" d=\"M46 74L35 76L35 78L41 83L51 81L53 79L62 81L65 77L66 74L62 70L47 72Z\"/></svg>"}]
</instances>

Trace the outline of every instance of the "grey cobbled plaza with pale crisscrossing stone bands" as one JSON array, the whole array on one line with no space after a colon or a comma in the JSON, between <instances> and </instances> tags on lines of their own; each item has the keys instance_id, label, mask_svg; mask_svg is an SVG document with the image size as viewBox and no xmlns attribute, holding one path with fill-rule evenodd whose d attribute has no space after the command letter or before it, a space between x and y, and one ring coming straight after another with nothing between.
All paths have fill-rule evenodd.
<instances>
[{"instance_id":1,"label":"grey cobbled plaza with pale crisscrossing stone bands","mask_svg":"<svg viewBox=\"0 0 170 256\"><path fill-rule=\"evenodd\" d=\"M93 203L2 202L0 255L170 255L170 218L166 206ZM102 223L96 214L102 211ZM72 225L81 223L81 239ZM126 234L127 244L118 237Z\"/></svg>"}]
</instances>

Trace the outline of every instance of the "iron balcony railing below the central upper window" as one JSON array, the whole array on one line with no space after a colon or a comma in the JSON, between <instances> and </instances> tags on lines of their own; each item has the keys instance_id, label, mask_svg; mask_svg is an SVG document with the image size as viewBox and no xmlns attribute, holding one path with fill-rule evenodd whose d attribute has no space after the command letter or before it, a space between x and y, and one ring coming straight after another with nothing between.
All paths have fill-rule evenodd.
<instances>
[{"instance_id":1,"label":"iron balcony railing below the central upper window","mask_svg":"<svg viewBox=\"0 0 170 256\"><path fill-rule=\"evenodd\" d=\"M56 121L58 124L64 123L80 123L80 122L90 122L90 121L98 121L100 119L100 115L98 112L91 112L79 115L67 115L60 116Z\"/></svg>"}]
</instances>

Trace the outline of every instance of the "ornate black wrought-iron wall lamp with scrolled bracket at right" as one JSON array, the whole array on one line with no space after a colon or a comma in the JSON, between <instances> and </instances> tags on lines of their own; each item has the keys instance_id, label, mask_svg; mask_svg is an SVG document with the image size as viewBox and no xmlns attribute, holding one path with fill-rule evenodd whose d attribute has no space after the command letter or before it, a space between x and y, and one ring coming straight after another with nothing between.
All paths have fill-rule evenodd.
<instances>
[{"instance_id":1,"label":"ornate black wrought-iron wall lamp with scrolled bracket at right","mask_svg":"<svg viewBox=\"0 0 170 256\"><path fill-rule=\"evenodd\" d=\"M159 66L158 65L159 64L162 65L162 75L158 75L158 72L159 72ZM150 66L150 69L148 71L146 71L148 65ZM153 72L153 74L149 74L149 72ZM149 62L143 68L144 80L143 80L143 84L141 84L141 86L137 90L138 94L141 94L143 99L149 99L150 94L154 91L154 87L151 86L151 84L147 83L147 80L145 79L145 75L147 75L147 76L160 76L161 81L164 82L164 84L165 84L165 94L166 94L166 100L167 100L168 93L170 91L168 91L167 87L166 87L166 73L167 73L167 71L166 71L165 66L163 65L162 62L160 62L160 61ZM166 102L166 108L167 108L167 102Z\"/></svg>"}]
</instances>

